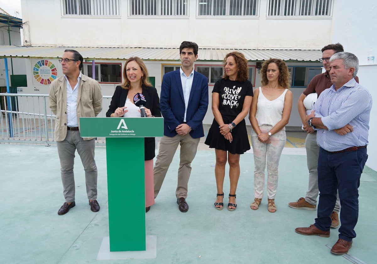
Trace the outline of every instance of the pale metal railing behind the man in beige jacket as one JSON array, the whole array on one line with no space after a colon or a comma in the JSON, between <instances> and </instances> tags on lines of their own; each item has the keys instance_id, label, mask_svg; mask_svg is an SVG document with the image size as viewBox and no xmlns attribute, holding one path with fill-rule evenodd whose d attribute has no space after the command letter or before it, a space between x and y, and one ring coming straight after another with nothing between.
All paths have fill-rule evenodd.
<instances>
[{"instance_id":1,"label":"pale metal railing behind the man in beige jacket","mask_svg":"<svg viewBox=\"0 0 377 264\"><path fill-rule=\"evenodd\" d=\"M111 96L104 96L105 117ZM55 144L55 118L49 108L49 95L0 93L0 143ZM96 138L97 146L105 145L105 138Z\"/></svg>"}]
</instances>

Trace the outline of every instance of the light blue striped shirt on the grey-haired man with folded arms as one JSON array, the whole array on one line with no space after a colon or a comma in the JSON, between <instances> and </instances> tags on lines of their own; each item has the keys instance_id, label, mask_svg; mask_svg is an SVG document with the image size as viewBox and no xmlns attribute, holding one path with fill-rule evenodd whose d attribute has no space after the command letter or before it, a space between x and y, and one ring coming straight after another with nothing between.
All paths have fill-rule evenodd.
<instances>
[{"instance_id":1,"label":"light blue striped shirt on the grey-haired man with folded arms","mask_svg":"<svg viewBox=\"0 0 377 264\"><path fill-rule=\"evenodd\" d=\"M372 96L354 78L337 91L335 86L323 91L314 104L314 116L321 117L327 129L316 129L317 144L327 151L368 145ZM350 124L353 132L337 134L334 129Z\"/></svg>"}]
</instances>

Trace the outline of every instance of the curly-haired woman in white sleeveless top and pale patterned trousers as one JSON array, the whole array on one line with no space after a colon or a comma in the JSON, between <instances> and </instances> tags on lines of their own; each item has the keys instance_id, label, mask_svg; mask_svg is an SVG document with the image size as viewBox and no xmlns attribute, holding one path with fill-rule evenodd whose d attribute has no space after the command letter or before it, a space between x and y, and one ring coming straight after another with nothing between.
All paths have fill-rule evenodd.
<instances>
[{"instance_id":1,"label":"curly-haired woman in white sleeveless top and pale patterned trousers","mask_svg":"<svg viewBox=\"0 0 377 264\"><path fill-rule=\"evenodd\" d=\"M254 153L254 202L251 209L257 210L262 202L267 163L268 211L276 212L275 195L279 160L287 139L285 125L292 109L292 92L289 91L290 74L287 64L270 58L262 64L262 87L254 90L249 120L253 131L251 144Z\"/></svg>"}]
</instances>

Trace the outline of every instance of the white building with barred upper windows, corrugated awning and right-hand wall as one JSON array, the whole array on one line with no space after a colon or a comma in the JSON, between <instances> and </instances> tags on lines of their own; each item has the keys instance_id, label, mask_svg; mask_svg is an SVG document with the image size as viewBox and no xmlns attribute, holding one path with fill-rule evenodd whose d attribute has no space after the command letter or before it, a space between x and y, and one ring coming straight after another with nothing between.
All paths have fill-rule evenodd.
<instances>
[{"instance_id":1,"label":"white building with barred upper windows, corrugated awning and right-hand wall","mask_svg":"<svg viewBox=\"0 0 377 264\"><path fill-rule=\"evenodd\" d=\"M282 58L292 76L288 126L299 127L297 99L322 72L320 49L337 42L359 57L360 83L376 98L372 86L377 66L366 62L367 52L377 51L372 0L21 0L21 6L25 47L0 51L14 61L26 61L26 94L48 94L49 82L62 75L58 58L66 48L83 55L84 74L93 76L94 60L104 95L113 94L123 81L124 61L134 56L144 60L159 91L162 76L180 66L180 43L189 40L199 45L194 67L208 77L210 103L228 52L245 54L254 87L261 84L261 62ZM42 66L50 69L48 76L40 75ZM377 157L375 114L373 106L367 165L377 170L371 162ZM209 106L204 123L212 119Z\"/></svg>"}]
</instances>

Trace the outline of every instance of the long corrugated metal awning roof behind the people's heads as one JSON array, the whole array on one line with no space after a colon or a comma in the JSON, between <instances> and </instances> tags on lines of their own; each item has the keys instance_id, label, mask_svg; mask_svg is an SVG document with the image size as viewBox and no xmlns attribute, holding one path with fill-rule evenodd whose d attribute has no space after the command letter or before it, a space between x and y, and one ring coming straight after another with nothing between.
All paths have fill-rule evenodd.
<instances>
[{"instance_id":1,"label":"long corrugated metal awning roof behind the people's heads","mask_svg":"<svg viewBox=\"0 0 377 264\"><path fill-rule=\"evenodd\" d=\"M0 58L60 58L65 49L77 50L84 60L126 60L137 56L143 60L179 61L178 48L0 46ZM285 61L318 61L322 57L319 50L203 48L198 51L198 61L222 61L231 51L242 52L249 61L262 61L270 57Z\"/></svg>"}]
</instances>

